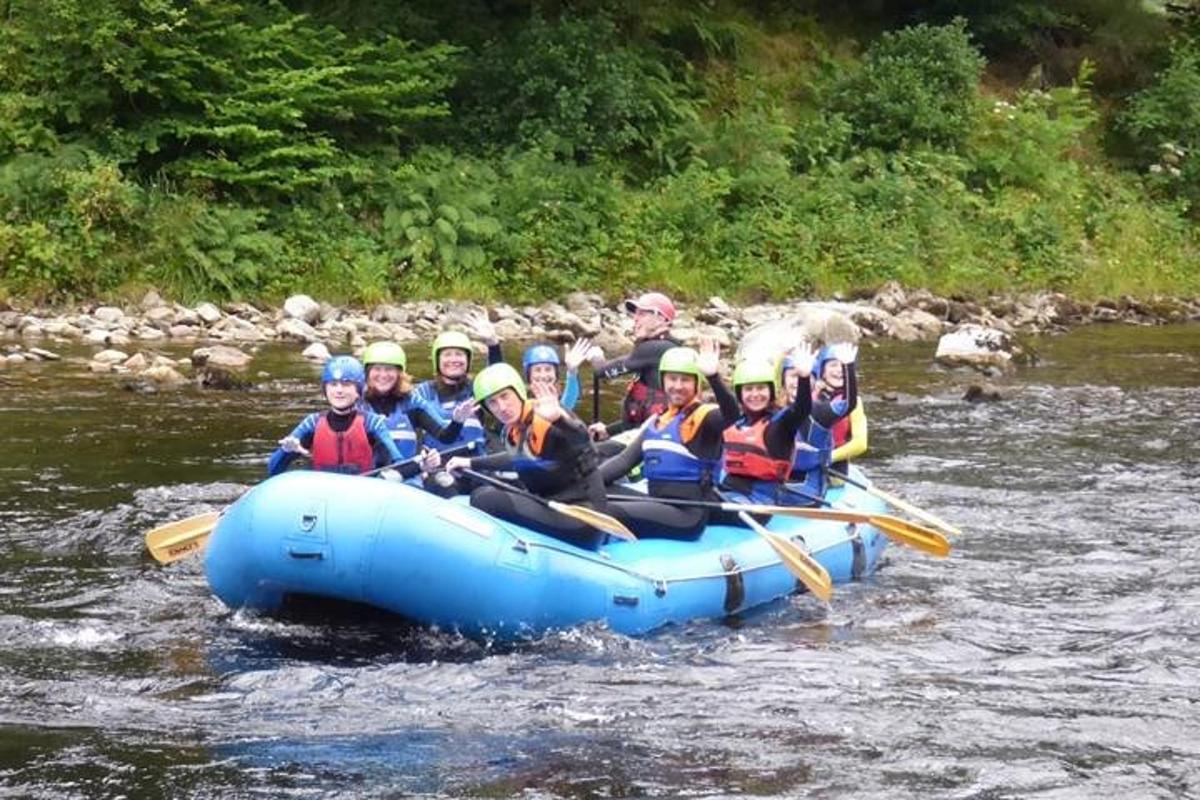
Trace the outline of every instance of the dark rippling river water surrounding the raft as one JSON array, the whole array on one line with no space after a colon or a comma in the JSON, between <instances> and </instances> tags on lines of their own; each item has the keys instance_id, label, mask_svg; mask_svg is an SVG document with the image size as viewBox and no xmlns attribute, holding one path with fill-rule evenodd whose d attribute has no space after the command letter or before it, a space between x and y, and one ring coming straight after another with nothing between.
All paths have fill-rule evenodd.
<instances>
[{"instance_id":1,"label":"dark rippling river water surrounding the raft","mask_svg":"<svg viewBox=\"0 0 1200 800\"><path fill-rule=\"evenodd\" d=\"M248 392L0 372L0 796L1200 796L1200 326L1033 344L985 404L929 344L863 353L860 463L949 559L504 648L234 614L143 553L314 407L292 349Z\"/></svg>"}]
</instances>

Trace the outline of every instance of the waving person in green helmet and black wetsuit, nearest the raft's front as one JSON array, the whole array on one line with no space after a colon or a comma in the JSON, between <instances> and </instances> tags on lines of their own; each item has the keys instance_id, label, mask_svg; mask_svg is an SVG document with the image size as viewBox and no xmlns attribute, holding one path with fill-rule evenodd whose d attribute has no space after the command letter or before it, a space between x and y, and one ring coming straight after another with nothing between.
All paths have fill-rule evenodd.
<instances>
[{"instance_id":1,"label":"waving person in green helmet and black wetsuit, nearest the raft's front","mask_svg":"<svg viewBox=\"0 0 1200 800\"><path fill-rule=\"evenodd\" d=\"M463 468L479 471L511 470L522 486L547 500L587 505L607 511L604 481L596 470L595 449L587 426L563 408L554 387L534 384L533 398L521 374L506 363L493 363L475 377L475 399L504 426L504 452L478 458L455 456L446 461L451 475ZM605 534L574 517L493 486L470 493L470 505L481 511L594 549Z\"/></svg>"}]
</instances>

